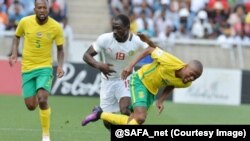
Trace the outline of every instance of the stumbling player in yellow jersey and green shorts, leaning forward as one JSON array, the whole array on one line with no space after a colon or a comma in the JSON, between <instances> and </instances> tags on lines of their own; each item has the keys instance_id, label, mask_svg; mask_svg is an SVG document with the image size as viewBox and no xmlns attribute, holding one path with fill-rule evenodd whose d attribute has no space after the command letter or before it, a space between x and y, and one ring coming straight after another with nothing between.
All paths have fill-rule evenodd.
<instances>
[{"instance_id":1,"label":"stumbling player in yellow jersey and green shorts, leaning forward","mask_svg":"<svg viewBox=\"0 0 250 141\"><path fill-rule=\"evenodd\" d=\"M84 119L85 125L89 122L102 119L116 125L141 125L147 117L147 110L153 104L155 96L160 88L164 88L159 96L156 107L159 113L164 109L164 101L174 88L189 87L192 81L199 78L203 71L203 65L198 60L192 60L188 64L177 57L163 51L144 35L141 39L155 48L147 48L129 66L127 66L121 78L125 79L132 73L135 64L148 54L151 54L153 62L143 65L130 77L131 109L130 116L103 112L100 107L94 107L93 112Z\"/></svg>"}]
</instances>

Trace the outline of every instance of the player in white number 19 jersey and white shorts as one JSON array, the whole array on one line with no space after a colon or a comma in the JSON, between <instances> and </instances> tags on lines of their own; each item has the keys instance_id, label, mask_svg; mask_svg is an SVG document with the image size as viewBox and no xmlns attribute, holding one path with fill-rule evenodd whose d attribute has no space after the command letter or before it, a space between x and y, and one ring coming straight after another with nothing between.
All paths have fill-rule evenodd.
<instances>
[{"instance_id":1,"label":"player in white number 19 jersey and white shorts","mask_svg":"<svg viewBox=\"0 0 250 141\"><path fill-rule=\"evenodd\" d=\"M100 107L103 111L130 115L129 81L122 80L121 73L147 47L147 43L130 32L129 18L120 14L112 19L112 32L100 35L84 53L83 60L102 73ZM102 53L101 62L94 59L98 53ZM104 121L104 125L110 129L110 123Z\"/></svg>"}]
</instances>

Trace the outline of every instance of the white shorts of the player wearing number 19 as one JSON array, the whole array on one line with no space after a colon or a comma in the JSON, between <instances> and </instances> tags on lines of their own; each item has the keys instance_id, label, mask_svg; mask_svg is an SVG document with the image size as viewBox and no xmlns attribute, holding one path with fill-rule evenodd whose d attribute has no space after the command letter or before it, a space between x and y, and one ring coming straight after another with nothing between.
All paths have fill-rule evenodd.
<instances>
[{"instance_id":1,"label":"white shorts of the player wearing number 19","mask_svg":"<svg viewBox=\"0 0 250 141\"><path fill-rule=\"evenodd\" d=\"M122 97L130 97L128 80L102 78L100 106L104 112L119 112L119 101Z\"/></svg>"}]
</instances>

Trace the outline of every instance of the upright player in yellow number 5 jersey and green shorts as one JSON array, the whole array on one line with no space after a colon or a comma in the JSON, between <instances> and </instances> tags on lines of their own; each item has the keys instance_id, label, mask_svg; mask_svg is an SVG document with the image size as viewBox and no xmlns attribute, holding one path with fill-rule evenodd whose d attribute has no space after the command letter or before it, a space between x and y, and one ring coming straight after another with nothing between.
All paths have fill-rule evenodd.
<instances>
[{"instance_id":1,"label":"upright player in yellow number 5 jersey and green shorts","mask_svg":"<svg viewBox=\"0 0 250 141\"><path fill-rule=\"evenodd\" d=\"M19 22L12 44L10 66L17 61L17 49L20 38L24 38L22 56L22 95L26 107L33 111L39 105L42 126L42 141L50 141L50 114L48 96L51 90L52 46L57 45L57 77L64 75L63 44L64 36L61 25L48 16L48 0L35 0L35 15L27 16Z\"/></svg>"}]
</instances>

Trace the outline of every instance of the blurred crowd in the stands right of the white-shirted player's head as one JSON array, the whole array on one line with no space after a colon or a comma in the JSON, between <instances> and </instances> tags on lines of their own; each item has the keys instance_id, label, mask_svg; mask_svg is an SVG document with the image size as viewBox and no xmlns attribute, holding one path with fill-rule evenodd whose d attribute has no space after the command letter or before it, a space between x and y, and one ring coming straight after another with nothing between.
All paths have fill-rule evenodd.
<instances>
[{"instance_id":1,"label":"blurred crowd in the stands right of the white-shirted player's head","mask_svg":"<svg viewBox=\"0 0 250 141\"><path fill-rule=\"evenodd\" d=\"M130 16L131 31L160 40L250 41L250 0L108 0L108 4L111 15Z\"/></svg>"}]
</instances>

